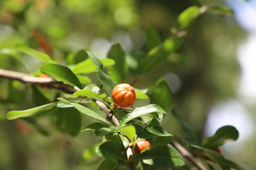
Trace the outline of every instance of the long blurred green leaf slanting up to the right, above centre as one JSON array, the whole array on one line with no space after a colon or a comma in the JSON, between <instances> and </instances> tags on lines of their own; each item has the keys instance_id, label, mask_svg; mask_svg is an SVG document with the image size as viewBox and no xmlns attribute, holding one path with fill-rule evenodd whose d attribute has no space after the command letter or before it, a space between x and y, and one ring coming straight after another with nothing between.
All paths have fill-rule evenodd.
<instances>
[{"instance_id":1,"label":"long blurred green leaf slanting up to the right, above centre","mask_svg":"<svg viewBox=\"0 0 256 170\"><path fill-rule=\"evenodd\" d=\"M156 46L148 52L146 57L140 62L138 73L144 74L153 70L168 55L176 51L183 43L182 38L168 38L161 45Z\"/></svg>"}]
</instances>

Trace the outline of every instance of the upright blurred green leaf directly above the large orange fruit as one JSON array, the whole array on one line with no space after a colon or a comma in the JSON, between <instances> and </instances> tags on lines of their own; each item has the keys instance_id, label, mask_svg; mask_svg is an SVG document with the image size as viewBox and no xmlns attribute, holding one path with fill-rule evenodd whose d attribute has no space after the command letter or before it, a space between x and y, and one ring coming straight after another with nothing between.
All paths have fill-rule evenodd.
<instances>
[{"instance_id":1,"label":"upright blurred green leaf directly above the large orange fruit","mask_svg":"<svg viewBox=\"0 0 256 170\"><path fill-rule=\"evenodd\" d=\"M112 45L107 57L116 62L115 66L108 67L108 74L115 79L117 83L124 82L128 65L126 64L125 53L122 46L120 44Z\"/></svg>"}]
</instances>

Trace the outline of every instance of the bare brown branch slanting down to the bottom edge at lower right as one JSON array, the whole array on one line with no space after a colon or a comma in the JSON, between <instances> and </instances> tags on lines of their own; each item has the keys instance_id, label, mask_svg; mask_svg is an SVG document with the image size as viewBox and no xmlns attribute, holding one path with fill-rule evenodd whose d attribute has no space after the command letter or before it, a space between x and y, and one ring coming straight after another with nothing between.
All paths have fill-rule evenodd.
<instances>
[{"instance_id":1,"label":"bare brown branch slanting down to the bottom edge at lower right","mask_svg":"<svg viewBox=\"0 0 256 170\"><path fill-rule=\"evenodd\" d=\"M180 152L180 154L182 155L182 157L188 159L191 163L193 163L194 166L196 166L198 168L198 170L207 170L207 168L204 167L204 165L198 161L197 159L195 159L195 157L191 154L191 152L189 152L188 150L186 150L186 148L184 148L181 144L179 144L176 141L171 141L170 144L177 149L177 151Z\"/></svg>"}]
</instances>

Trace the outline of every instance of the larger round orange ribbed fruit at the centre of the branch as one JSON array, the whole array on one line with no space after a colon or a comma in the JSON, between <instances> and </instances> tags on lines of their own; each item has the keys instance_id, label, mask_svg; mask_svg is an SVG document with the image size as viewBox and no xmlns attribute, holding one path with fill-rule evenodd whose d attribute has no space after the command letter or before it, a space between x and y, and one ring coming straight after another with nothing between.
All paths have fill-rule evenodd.
<instances>
[{"instance_id":1,"label":"larger round orange ribbed fruit at the centre of the branch","mask_svg":"<svg viewBox=\"0 0 256 170\"><path fill-rule=\"evenodd\" d=\"M130 84L118 84L113 88L112 99L115 107L128 108L136 100L135 90Z\"/></svg>"}]
</instances>

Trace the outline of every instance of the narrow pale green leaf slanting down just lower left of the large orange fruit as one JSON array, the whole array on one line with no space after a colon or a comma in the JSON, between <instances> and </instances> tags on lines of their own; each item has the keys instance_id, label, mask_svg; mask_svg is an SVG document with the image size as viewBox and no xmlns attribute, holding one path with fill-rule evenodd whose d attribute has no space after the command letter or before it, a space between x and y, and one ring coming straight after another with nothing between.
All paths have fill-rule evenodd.
<instances>
[{"instance_id":1,"label":"narrow pale green leaf slanting down just lower left of the large orange fruit","mask_svg":"<svg viewBox=\"0 0 256 170\"><path fill-rule=\"evenodd\" d=\"M109 124L111 126L113 126L108 120L106 120L104 117L102 117L101 115L99 115L98 113L94 112L93 110L86 108L85 106L82 106L81 104L76 104L76 103L71 103L69 101L67 101L66 99L63 99L61 97L58 97L58 100L62 101L62 102L66 102L71 104L72 106L74 106L74 108L76 108L80 113L83 113L85 115L88 115L90 117L93 117L95 119L98 119L100 121L105 122L106 124Z\"/></svg>"}]
</instances>

